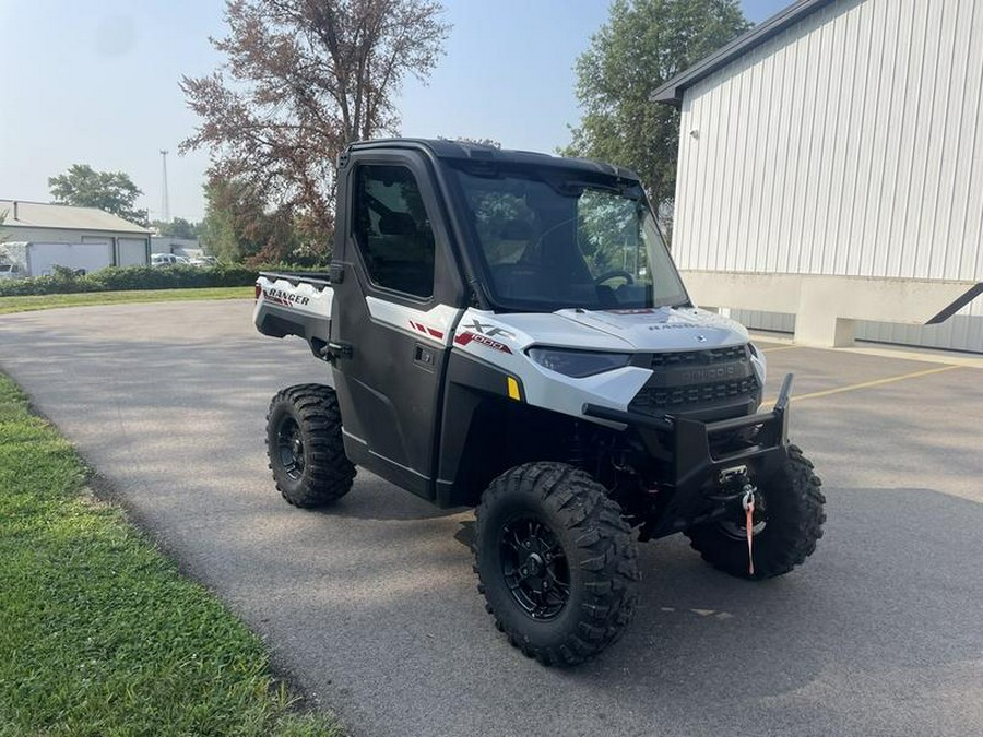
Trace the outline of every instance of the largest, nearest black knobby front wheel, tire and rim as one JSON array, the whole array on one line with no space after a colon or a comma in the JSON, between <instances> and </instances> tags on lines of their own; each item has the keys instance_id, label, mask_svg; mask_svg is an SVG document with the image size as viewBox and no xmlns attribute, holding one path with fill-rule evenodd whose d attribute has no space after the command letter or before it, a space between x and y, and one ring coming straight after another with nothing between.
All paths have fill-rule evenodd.
<instances>
[{"instance_id":1,"label":"largest, nearest black knobby front wheel, tire and rim","mask_svg":"<svg viewBox=\"0 0 983 737\"><path fill-rule=\"evenodd\" d=\"M637 552L601 484L564 463L528 463L492 482L476 516L478 591L512 645L569 666L621 635Z\"/></svg>"}]
</instances>

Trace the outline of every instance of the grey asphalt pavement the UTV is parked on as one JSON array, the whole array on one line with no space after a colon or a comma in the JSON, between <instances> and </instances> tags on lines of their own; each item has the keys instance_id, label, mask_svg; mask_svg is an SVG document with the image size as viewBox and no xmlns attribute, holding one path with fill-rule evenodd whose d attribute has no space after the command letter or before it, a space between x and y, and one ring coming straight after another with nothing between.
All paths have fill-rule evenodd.
<instances>
[{"instance_id":1,"label":"grey asphalt pavement the UTV is parked on","mask_svg":"<svg viewBox=\"0 0 983 737\"><path fill-rule=\"evenodd\" d=\"M447 513L362 473L333 512L283 503L263 416L317 381L251 302L0 317L0 368L133 516L356 735L983 734L983 359L765 338L769 395L828 498L826 536L763 584L679 537L641 550L627 635L575 670L502 640Z\"/></svg>"}]
</instances>

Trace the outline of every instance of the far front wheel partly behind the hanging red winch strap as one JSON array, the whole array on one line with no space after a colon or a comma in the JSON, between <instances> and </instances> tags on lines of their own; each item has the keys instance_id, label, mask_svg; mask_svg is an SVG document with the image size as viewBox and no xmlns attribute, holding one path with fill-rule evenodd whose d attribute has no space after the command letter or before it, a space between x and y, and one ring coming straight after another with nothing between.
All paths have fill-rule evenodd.
<instances>
[{"instance_id":1,"label":"far front wheel partly behind the hanging red winch strap","mask_svg":"<svg viewBox=\"0 0 983 737\"><path fill-rule=\"evenodd\" d=\"M822 537L826 498L813 464L796 445L781 467L759 484L753 520L755 572L748 570L747 521L743 511L733 519L686 531L692 548L703 560L742 579L771 579L805 562Z\"/></svg>"}]
</instances>

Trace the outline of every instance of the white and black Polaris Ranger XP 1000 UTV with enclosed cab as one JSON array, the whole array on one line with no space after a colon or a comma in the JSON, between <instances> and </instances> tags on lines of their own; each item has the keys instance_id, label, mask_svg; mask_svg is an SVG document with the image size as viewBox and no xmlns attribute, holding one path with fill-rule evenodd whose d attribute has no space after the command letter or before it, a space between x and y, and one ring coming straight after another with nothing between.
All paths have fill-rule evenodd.
<instances>
[{"instance_id":1,"label":"white and black Polaris Ranger XP 1000 UTV with enclosed cab","mask_svg":"<svg viewBox=\"0 0 983 737\"><path fill-rule=\"evenodd\" d=\"M789 444L785 378L694 307L635 174L448 141L352 145L327 274L264 273L254 322L324 384L280 392L276 487L329 504L356 466L474 506L475 571L509 641L573 665L636 606L640 540L682 532L767 579L816 547L819 479ZM757 413L757 414L756 414Z\"/></svg>"}]
</instances>

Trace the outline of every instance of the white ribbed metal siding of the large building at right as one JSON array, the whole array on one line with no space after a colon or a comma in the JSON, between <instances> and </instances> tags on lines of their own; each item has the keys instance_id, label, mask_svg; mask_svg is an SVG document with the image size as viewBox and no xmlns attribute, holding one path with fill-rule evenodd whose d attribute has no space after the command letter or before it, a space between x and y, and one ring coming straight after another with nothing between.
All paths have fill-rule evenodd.
<instances>
[{"instance_id":1,"label":"white ribbed metal siding of the large building at right","mask_svg":"<svg viewBox=\"0 0 983 737\"><path fill-rule=\"evenodd\" d=\"M680 268L983 281L981 39L983 0L841 0L687 90ZM983 350L981 301L857 336Z\"/></svg>"}]
</instances>

